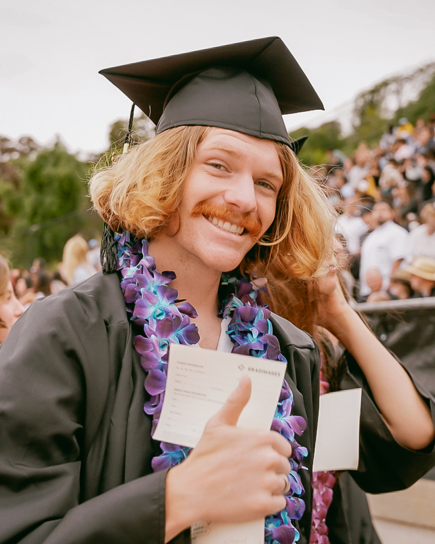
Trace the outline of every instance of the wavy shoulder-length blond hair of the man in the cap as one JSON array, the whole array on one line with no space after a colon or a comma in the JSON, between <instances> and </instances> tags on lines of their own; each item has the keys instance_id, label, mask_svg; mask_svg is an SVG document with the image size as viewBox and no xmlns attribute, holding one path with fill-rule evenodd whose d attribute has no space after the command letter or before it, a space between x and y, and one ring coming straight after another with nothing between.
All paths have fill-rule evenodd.
<instances>
[{"instance_id":1,"label":"wavy shoulder-length blond hair of the man in the cap","mask_svg":"<svg viewBox=\"0 0 435 544\"><path fill-rule=\"evenodd\" d=\"M169 129L97 171L89 183L95 210L115 232L156 237L177 212L197 147L209 129ZM331 262L334 212L289 147L274 144L284 177L275 220L239 268L282 280L315 277Z\"/></svg>"}]
</instances>

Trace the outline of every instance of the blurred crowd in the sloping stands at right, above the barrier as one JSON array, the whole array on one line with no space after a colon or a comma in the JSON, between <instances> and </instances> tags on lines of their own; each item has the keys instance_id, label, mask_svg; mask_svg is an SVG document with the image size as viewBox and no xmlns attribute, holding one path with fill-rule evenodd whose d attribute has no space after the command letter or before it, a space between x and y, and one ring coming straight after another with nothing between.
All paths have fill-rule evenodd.
<instances>
[{"instance_id":1,"label":"blurred crowd in the sloping stands at right, above the barrier","mask_svg":"<svg viewBox=\"0 0 435 544\"><path fill-rule=\"evenodd\" d=\"M314 169L339 213L347 288L360 302L435 295L434 127L435 114L402 118L374 149L331 150Z\"/></svg>"}]
</instances>

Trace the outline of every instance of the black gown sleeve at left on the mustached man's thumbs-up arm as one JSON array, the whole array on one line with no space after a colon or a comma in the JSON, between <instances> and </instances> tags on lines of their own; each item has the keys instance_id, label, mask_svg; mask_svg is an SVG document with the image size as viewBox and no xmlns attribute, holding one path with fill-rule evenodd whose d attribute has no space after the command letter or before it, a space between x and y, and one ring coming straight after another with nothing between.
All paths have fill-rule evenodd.
<instances>
[{"instance_id":1,"label":"black gown sleeve at left on the mustached man's thumbs-up arm","mask_svg":"<svg viewBox=\"0 0 435 544\"><path fill-rule=\"evenodd\" d=\"M65 291L35 302L0 349L0 542L163 543L166 471L80 500L89 406L95 429L105 409L89 376L104 382L109 347L91 298Z\"/></svg>"}]
</instances>

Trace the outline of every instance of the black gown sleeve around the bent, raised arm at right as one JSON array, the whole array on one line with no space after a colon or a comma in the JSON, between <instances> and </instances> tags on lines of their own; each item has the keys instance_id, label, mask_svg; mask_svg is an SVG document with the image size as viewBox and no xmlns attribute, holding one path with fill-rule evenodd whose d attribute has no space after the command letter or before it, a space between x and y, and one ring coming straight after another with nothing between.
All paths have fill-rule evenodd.
<instances>
[{"instance_id":1,"label":"black gown sleeve around the bent, raised arm at right","mask_svg":"<svg viewBox=\"0 0 435 544\"><path fill-rule=\"evenodd\" d=\"M435 444L423 450L411 450L394 439L371 394L365 376L355 358L345 351L346 363L340 389L362 387L358 471L349 471L356 483L369 493L398 491L411 486L435 465ZM400 361L399 361L400 362ZM403 365L402 365L403 366ZM429 407L435 424L435 399L409 370L415 387ZM406 399L403 399L406 402Z\"/></svg>"}]
</instances>

